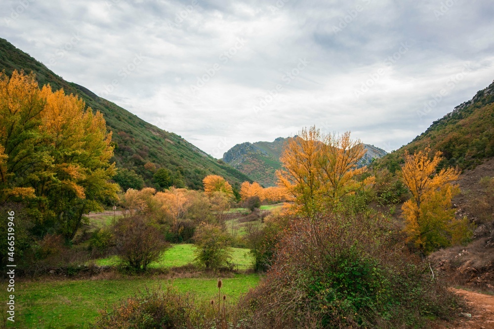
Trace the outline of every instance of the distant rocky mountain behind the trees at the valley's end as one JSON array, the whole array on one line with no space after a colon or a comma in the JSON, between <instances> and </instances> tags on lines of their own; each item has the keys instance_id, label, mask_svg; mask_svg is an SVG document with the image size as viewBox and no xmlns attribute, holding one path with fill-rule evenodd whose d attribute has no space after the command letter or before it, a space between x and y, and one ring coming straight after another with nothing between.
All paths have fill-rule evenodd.
<instances>
[{"instance_id":1,"label":"distant rocky mountain behind the trees at the valley's end","mask_svg":"<svg viewBox=\"0 0 494 329\"><path fill-rule=\"evenodd\" d=\"M281 167L281 153L289 138L278 137L273 142L237 144L223 154L223 161L264 186L275 186L275 172ZM385 150L372 145L364 144L364 147L367 152L361 165L367 165L372 159L387 154Z\"/></svg>"}]
</instances>

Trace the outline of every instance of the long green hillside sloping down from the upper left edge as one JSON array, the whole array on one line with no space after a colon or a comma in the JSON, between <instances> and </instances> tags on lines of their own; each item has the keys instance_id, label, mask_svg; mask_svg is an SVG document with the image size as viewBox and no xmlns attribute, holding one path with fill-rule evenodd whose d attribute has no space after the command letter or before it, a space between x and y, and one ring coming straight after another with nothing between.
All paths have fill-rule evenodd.
<instances>
[{"instance_id":1,"label":"long green hillside sloping down from the upper left edge","mask_svg":"<svg viewBox=\"0 0 494 329\"><path fill-rule=\"evenodd\" d=\"M7 40L0 38L0 70L9 76L14 70L36 73L40 86L50 84L53 90L63 88L66 94L77 94L86 106L103 113L107 129L113 132L114 157L117 167L133 170L148 186L153 186L153 171L167 168L173 175L194 189L202 188L202 180L208 174L223 176L232 185L239 187L251 181L246 175L190 144L181 136L162 130L101 98L73 82L50 71L29 54L17 49ZM146 165L146 166L145 166Z\"/></svg>"}]
</instances>

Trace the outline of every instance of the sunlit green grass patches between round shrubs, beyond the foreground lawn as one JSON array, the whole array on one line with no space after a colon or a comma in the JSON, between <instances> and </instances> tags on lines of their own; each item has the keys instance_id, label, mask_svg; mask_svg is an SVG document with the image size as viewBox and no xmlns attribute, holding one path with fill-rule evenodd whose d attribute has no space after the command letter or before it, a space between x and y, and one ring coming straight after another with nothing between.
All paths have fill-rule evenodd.
<instances>
[{"instance_id":1,"label":"sunlit green grass patches between round shrubs, beyond the foreground lawn","mask_svg":"<svg viewBox=\"0 0 494 329\"><path fill-rule=\"evenodd\" d=\"M194 261L194 245L180 244L173 245L161 258L149 266L154 268L183 266ZM232 248L232 262L239 265L252 265L252 257L248 254L248 249ZM118 262L117 256L96 260L96 265L115 265Z\"/></svg>"}]
</instances>

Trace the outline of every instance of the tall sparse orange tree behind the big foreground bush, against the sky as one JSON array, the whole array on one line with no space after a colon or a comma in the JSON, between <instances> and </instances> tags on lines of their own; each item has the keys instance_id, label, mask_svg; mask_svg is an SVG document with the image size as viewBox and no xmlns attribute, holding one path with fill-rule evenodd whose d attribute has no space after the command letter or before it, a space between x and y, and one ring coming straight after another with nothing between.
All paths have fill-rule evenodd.
<instances>
[{"instance_id":1,"label":"tall sparse orange tree behind the big foreground bush, against the sky","mask_svg":"<svg viewBox=\"0 0 494 329\"><path fill-rule=\"evenodd\" d=\"M282 153L279 185L293 197L299 211L314 218L358 188L354 178L362 172L357 165L365 151L349 132L323 135L315 126L303 128Z\"/></svg>"}]
</instances>

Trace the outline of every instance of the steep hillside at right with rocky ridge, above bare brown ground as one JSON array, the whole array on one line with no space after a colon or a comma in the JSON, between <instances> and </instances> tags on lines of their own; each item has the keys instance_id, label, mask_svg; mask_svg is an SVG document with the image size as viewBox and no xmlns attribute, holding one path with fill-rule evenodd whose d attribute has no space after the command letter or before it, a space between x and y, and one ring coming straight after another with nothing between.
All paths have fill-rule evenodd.
<instances>
[{"instance_id":1,"label":"steep hillside at right with rocky ridge, above bare brown ground","mask_svg":"<svg viewBox=\"0 0 494 329\"><path fill-rule=\"evenodd\" d=\"M430 146L441 151L443 165L472 169L494 156L494 82L478 91L437 121L412 142L385 156L380 162L397 168L405 150L413 153Z\"/></svg>"}]
</instances>

